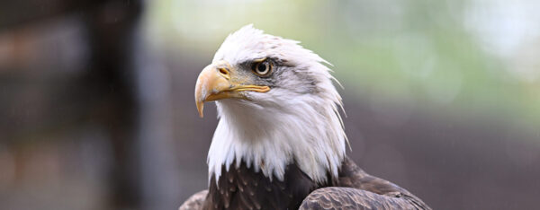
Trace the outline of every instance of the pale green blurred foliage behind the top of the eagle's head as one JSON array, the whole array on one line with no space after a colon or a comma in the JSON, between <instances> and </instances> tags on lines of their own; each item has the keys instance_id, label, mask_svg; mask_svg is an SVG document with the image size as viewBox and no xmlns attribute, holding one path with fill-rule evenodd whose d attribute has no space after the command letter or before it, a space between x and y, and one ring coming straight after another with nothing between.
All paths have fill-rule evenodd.
<instances>
[{"instance_id":1,"label":"pale green blurred foliage behind the top of the eagle's head","mask_svg":"<svg viewBox=\"0 0 540 210\"><path fill-rule=\"evenodd\" d=\"M270 34L301 40L327 59L347 96L415 101L414 106L449 117L499 118L536 131L538 76L514 74L518 51L500 55L482 46L482 34L474 30L478 22L471 20L477 14L473 5L491 8L480 0L160 0L149 5L146 27L157 48L210 62L227 34L254 23ZM533 62L538 67L534 56Z\"/></svg>"}]
</instances>

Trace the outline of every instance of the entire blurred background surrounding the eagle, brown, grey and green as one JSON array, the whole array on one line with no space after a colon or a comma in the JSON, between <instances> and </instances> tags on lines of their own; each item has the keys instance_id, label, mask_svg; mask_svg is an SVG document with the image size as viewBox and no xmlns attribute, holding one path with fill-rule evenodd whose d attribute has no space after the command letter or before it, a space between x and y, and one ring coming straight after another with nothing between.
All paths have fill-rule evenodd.
<instances>
[{"instance_id":1,"label":"entire blurred background surrounding the eagle, brown, grey and green","mask_svg":"<svg viewBox=\"0 0 540 210\"><path fill-rule=\"evenodd\" d=\"M540 197L540 2L0 3L0 209L176 209L207 188L196 77L254 23L345 89L348 155L435 209Z\"/></svg>"}]
</instances>

